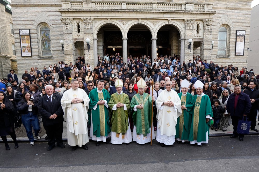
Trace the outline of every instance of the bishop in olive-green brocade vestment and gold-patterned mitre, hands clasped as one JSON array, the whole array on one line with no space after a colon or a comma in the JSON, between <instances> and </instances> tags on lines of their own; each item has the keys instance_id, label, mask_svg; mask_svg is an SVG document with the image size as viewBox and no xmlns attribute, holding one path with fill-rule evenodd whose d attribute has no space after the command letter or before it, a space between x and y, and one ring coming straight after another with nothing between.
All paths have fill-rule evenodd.
<instances>
[{"instance_id":1,"label":"bishop in olive-green brocade vestment and gold-patterned mitre, hands clasped","mask_svg":"<svg viewBox=\"0 0 259 172\"><path fill-rule=\"evenodd\" d=\"M122 92L123 82L117 79L114 83L117 92L111 95L108 103L111 112L111 143L122 144L132 142L128 120L130 99Z\"/></svg>"}]
</instances>

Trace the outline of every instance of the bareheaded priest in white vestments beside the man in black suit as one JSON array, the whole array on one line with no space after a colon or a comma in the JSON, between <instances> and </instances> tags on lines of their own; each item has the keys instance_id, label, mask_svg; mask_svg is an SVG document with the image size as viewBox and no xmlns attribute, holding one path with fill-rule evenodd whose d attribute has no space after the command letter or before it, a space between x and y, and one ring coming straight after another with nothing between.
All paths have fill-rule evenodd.
<instances>
[{"instance_id":1,"label":"bareheaded priest in white vestments beside the man in black suit","mask_svg":"<svg viewBox=\"0 0 259 172\"><path fill-rule=\"evenodd\" d=\"M76 148L83 147L87 150L88 138L88 95L83 89L78 88L79 84L76 79L72 79L72 88L63 93L61 106L67 121L67 142L72 147L72 151Z\"/></svg>"}]
</instances>

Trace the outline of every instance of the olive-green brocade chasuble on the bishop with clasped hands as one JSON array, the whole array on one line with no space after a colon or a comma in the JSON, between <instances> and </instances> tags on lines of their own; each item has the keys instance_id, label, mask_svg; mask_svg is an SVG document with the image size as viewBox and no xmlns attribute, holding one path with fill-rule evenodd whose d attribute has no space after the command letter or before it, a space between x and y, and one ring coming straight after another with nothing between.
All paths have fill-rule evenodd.
<instances>
[{"instance_id":1,"label":"olive-green brocade chasuble on the bishop with clasped hands","mask_svg":"<svg viewBox=\"0 0 259 172\"><path fill-rule=\"evenodd\" d=\"M124 135L128 130L128 109L130 108L130 99L127 94L122 93L118 94L117 92L111 95L111 99L108 103L110 109L118 103L123 103L126 105L126 110L124 107L117 108L112 110L111 113L111 131L116 132L117 134L121 133Z\"/></svg>"}]
</instances>

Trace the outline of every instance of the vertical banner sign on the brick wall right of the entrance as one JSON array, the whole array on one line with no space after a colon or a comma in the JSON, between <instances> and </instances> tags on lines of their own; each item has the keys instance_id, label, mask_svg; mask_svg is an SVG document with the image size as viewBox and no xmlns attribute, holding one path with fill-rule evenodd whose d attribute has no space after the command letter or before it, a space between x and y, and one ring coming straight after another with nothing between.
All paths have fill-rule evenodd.
<instances>
[{"instance_id":1,"label":"vertical banner sign on the brick wall right of the entrance","mask_svg":"<svg viewBox=\"0 0 259 172\"><path fill-rule=\"evenodd\" d=\"M235 56L244 55L244 40L246 37L246 31L236 31L236 50Z\"/></svg>"}]
</instances>

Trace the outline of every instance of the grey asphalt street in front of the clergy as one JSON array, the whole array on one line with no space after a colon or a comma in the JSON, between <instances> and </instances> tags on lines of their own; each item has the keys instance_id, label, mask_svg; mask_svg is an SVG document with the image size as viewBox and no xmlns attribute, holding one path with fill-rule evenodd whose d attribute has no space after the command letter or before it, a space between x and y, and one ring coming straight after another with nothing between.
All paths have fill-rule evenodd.
<instances>
[{"instance_id":1,"label":"grey asphalt street in front of the clergy","mask_svg":"<svg viewBox=\"0 0 259 172\"><path fill-rule=\"evenodd\" d=\"M89 142L88 150L64 143L64 149L47 151L47 143L9 143L10 151L0 144L0 171L258 171L258 135L238 138L213 137L202 147L190 144L161 147L153 145L112 145Z\"/></svg>"}]
</instances>

